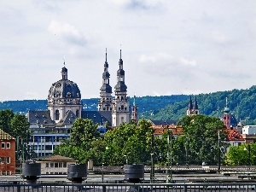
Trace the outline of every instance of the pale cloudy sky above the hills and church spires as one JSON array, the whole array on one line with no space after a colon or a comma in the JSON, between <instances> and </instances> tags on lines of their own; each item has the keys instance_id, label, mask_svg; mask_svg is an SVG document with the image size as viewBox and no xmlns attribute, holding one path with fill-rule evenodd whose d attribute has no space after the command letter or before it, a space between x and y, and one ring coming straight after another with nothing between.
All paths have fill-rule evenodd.
<instances>
[{"instance_id":1,"label":"pale cloudy sky above the hills and church spires","mask_svg":"<svg viewBox=\"0 0 256 192\"><path fill-rule=\"evenodd\" d=\"M47 99L61 79L99 97L108 49L128 96L199 94L256 84L255 0L2 0L0 101Z\"/></svg>"}]
</instances>

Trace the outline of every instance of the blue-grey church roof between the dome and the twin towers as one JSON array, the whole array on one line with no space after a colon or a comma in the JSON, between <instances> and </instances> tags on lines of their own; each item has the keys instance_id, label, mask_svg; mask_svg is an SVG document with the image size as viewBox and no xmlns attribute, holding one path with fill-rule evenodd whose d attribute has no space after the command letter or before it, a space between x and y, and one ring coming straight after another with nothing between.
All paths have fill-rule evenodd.
<instances>
[{"instance_id":1,"label":"blue-grey church roof between the dome and the twin towers","mask_svg":"<svg viewBox=\"0 0 256 192\"><path fill-rule=\"evenodd\" d=\"M108 125L112 125L111 111L82 111L82 118L91 119L98 125L103 125L106 121Z\"/></svg>"}]
</instances>

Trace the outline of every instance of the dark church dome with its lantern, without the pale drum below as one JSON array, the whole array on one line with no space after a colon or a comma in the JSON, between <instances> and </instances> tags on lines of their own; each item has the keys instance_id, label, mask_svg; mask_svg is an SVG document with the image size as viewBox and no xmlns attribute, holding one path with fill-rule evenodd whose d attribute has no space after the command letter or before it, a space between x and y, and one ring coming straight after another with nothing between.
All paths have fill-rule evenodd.
<instances>
[{"instance_id":1,"label":"dark church dome with its lantern, without the pale drum below","mask_svg":"<svg viewBox=\"0 0 256 192\"><path fill-rule=\"evenodd\" d=\"M67 68L61 69L62 79L49 88L48 102L58 104L80 104L81 93L78 84L67 79Z\"/></svg>"}]
</instances>

